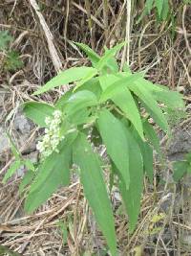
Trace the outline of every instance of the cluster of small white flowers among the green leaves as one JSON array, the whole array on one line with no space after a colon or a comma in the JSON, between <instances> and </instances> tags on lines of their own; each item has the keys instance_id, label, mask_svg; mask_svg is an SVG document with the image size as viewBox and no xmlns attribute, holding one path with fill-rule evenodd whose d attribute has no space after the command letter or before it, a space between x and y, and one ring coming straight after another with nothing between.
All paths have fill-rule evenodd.
<instances>
[{"instance_id":1,"label":"cluster of small white flowers among the green leaves","mask_svg":"<svg viewBox=\"0 0 191 256\"><path fill-rule=\"evenodd\" d=\"M60 135L61 122L62 112L59 110L53 112L53 118L46 117L45 123L49 128L45 128L43 140L39 141L36 145L37 151L41 153L43 158L52 154L53 151L58 152L57 146L64 139L64 136Z\"/></svg>"}]
</instances>

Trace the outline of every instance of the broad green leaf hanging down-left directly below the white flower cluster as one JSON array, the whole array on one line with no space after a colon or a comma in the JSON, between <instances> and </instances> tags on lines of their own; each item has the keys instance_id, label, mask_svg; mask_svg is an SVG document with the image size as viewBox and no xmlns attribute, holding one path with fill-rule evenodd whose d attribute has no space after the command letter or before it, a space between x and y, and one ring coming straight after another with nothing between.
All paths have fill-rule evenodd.
<instances>
[{"instance_id":1,"label":"broad green leaf hanging down-left directly below the white flower cluster","mask_svg":"<svg viewBox=\"0 0 191 256\"><path fill-rule=\"evenodd\" d=\"M32 213L40 204L50 198L58 186L66 186L70 181L72 147L76 133L68 135L58 148L38 167L30 193L25 201L25 210Z\"/></svg>"}]
</instances>

